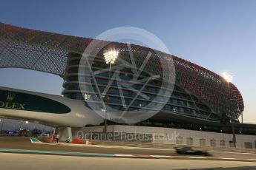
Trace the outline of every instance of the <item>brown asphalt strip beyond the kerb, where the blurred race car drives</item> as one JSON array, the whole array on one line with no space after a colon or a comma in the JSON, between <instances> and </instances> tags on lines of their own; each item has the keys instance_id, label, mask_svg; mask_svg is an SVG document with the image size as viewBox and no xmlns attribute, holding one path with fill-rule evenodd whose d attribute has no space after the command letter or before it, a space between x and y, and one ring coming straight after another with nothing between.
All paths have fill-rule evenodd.
<instances>
[{"instance_id":1,"label":"brown asphalt strip beyond the kerb, where the blurred race car drives","mask_svg":"<svg viewBox=\"0 0 256 170\"><path fill-rule=\"evenodd\" d=\"M0 149L29 149L56 152L85 152L104 154L142 154L142 155L167 155L179 156L172 149L143 149L130 147L104 147L104 146L67 146L63 144L39 144L31 143L30 137L0 137ZM237 159L255 159L256 154L241 154L230 152L211 152L212 157L229 157Z\"/></svg>"}]
</instances>

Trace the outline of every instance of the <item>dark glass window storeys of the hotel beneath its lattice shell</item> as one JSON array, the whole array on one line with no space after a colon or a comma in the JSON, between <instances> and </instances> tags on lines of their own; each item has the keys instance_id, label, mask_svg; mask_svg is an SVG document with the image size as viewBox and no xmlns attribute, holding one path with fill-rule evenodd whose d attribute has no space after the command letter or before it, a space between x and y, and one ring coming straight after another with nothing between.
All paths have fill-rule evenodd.
<instances>
[{"instance_id":1,"label":"dark glass window storeys of the hotel beneath its lattice shell","mask_svg":"<svg viewBox=\"0 0 256 170\"><path fill-rule=\"evenodd\" d=\"M161 85L165 82L160 78L148 81L148 84L133 84L134 72L131 69L124 68L119 70L118 79L114 78L116 72L111 72L109 77L108 64L105 64L104 58L96 57L93 59L91 69L95 74L96 82L90 74L90 68L85 67L82 72L79 72L79 55L76 57L70 56L67 64L67 72L65 74L65 83L63 84L63 95L68 98L76 100L85 100L85 93L90 95L90 98L85 100L87 103L96 103L99 109L102 109L100 104L101 99L99 95L105 92L107 86L109 87L103 98L104 102L111 106L113 110L122 111L126 106L130 106L129 111L136 111L143 109L150 111L154 107L148 108L149 103L151 106L162 106L160 112L168 114L188 115L194 118L203 118L209 120L219 120L220 118L211 112L211 109L201 102L194 95L188 94L186 90L180 86L174 86L174 89L161 89ZM80 90L78 73L83 76L83 84L91 86ZM146 78L147 72L141 72L137 75L138 79ZM127 84L125 86L123 81ZM96 88L99 87L99 91ZM120 89L122 93L120 93ZM138 95L139 94L139 95ZM136 98L136 100L133 100Z\"/></svg>"}]
</instances>

